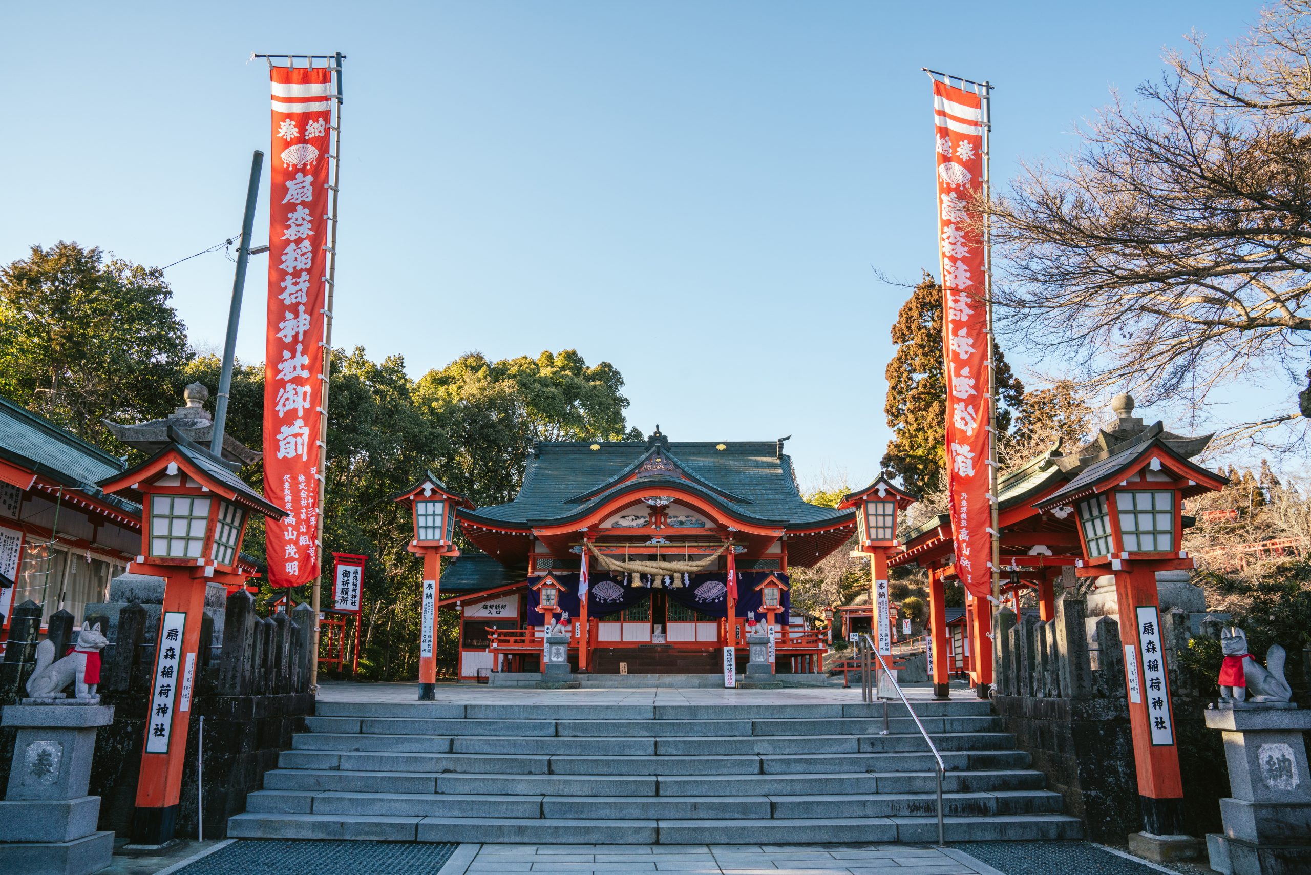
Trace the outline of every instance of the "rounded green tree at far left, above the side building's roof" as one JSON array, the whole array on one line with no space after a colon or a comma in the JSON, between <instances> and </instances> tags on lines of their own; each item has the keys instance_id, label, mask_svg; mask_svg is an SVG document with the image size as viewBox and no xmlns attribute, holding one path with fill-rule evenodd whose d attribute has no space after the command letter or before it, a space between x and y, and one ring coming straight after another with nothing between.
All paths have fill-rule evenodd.
<instances>
[{"instance_id":1,"label":"rounded green tree at far left, above the side building's roof","mask_svg":"<svg viewBox=\"0 0 1311 875\"><path fill-rule=\"evenodd\" d=\"M159 269L31 247L0 268L0 395L121 451L101 418L136 422L181 399L190 350L172 296Z\"/></svg>"}]
</instances>

